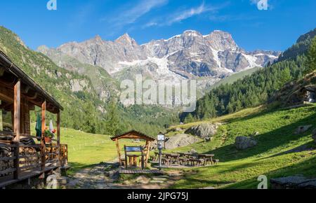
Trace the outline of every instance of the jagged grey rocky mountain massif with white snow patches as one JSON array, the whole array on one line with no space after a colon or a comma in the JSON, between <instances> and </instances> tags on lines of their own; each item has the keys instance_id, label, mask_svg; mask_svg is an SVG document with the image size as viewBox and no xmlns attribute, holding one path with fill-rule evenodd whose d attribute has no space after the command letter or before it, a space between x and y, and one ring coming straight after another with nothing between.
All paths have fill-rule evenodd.
<instances>
[{"instance_id":1,"label":"jagged grey rocky mountain massif with white snow patches","mask_svg":"<svg viewBox=\"0 0 316 203\"><path fill-rule=\"evenodd\" d=\"M134 71L132 74L145 72L153 79L203 78L207 83L215 83L245 69L265 66L280 55L280 52L262 50L246 52L224 31L213 31L204 36L192 30L143 45L124 34L116 41L104 41L96 36L56 49L42 46L39 51L66 69L70 66L65 62L65 56L82 64L100 66L118 79L129 76L126 71Z\"/></svg>"}]
</instances>

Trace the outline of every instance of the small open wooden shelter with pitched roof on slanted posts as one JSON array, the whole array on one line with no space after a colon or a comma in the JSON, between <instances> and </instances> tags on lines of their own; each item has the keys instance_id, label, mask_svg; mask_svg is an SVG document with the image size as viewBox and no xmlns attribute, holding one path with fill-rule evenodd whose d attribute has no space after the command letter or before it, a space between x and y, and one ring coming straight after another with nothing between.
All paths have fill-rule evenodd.
<instances>
[{"instance_id":1,"label":"small open wooden shelter with pitched roof on slanted posts","mask_svg":"<svg viewBox=\"0 0 316 203\"><path fill-rule=\"evenodd\" d=\"M119 156L119 165L122 165L122 160L121 160L121 150L119 148L119 139L142 139L146 141L145 144L145 148L144 148L144 153L145 153L145 165L147 165L148 160L150 158L150 145L152 143L152 141L154 141L155 139L143 134L141 132L137 132L136 130L132 130L130 132L126 132L124 134L121 135L117 135L115 137L111 138L112 141L115 141L116 145L117 145L117 155ZM125 160L127 161L127 160Z\"/></svg>"}]
</instances>

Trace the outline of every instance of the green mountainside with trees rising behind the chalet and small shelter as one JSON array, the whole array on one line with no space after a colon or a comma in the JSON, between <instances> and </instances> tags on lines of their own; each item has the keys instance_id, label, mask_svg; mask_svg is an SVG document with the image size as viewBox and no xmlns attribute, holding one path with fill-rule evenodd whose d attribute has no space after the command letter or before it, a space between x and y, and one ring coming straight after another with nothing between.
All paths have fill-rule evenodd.
<instances>
[{"instance_id":1,"label":"green mountainside with trees rising behind the chalet and small shelter","mask_svg":"<svg viewBox=\"0 0 316 203\"><path fill-rule=\"evenodd\" d=\"M65 109L62 126L107 134L108 100L117 96L118 84L104 69L82 64L70 57L65 58L69 62L68 69L61 68L46 55L27 48L16 34L5 27L0 27L0 49L62 104ZM135 129L154 134L169 123L178 123L176 115L163 108L117 106L121 121L119 132ZM34 120L35 114L31 115Z\"/></svg>"}]
</instances>

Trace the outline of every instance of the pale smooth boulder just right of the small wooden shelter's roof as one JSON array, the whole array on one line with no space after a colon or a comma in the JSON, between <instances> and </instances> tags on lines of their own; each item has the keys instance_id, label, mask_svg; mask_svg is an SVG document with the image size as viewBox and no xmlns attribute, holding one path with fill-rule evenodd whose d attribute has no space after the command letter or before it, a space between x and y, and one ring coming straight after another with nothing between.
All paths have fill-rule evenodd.
<instances>
[{"instance_id":1,"label":"pale smooth boulder just right of the small wooden shelter's roof","mask_svg":"<svg viewBox=\"0 0 316 203\"><path fill-rule=\"evenodd\" d=\"M166 149L174 149L182 146L188 146L200 141L197 137L190 134L176 134L166 141Z\"/></svg>"}]
</instances>

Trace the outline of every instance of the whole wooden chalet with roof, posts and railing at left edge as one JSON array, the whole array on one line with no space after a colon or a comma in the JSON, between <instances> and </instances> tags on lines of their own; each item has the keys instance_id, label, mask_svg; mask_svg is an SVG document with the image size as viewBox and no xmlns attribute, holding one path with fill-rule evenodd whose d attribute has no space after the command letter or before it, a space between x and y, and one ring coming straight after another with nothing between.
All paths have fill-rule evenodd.
<instances>
[{"instance_id":1,"label":"whole wooden chalet with roof, posts and railing at left edge","mask_svg":"<svg viewBox=\"0 0 316 203\"><path fill-rule=\"evenodd\" d=\"M0 102L0 188L67 165L67 145L60 144L62 106L1 51ZM41 108L41 137L31 135L35 106ZM46 111L57 120L51 144L44 141Z\"/></svg>"}]
</instances>

